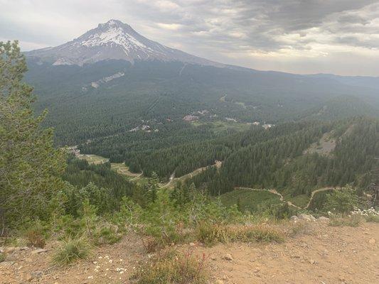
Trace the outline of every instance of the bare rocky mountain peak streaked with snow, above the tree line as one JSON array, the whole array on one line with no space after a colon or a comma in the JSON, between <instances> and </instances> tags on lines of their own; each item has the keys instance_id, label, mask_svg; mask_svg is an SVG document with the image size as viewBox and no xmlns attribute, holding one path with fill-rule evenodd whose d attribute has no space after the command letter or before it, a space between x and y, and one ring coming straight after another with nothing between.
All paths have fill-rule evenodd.
<instances>
[{"instance_id":1,"label":"bare rocky mountain peak streaked with snow, above the tree line","mask_svg":"<svg viewBox=\"0 0 379 284\"><path fill-rule=\"evenodd\" d=\"M83 65L101 60L164 60L201 65L222 66L181 50L168 48L149 40L117 20L100 23L79 38L55 48L43 48L25 53L27 57L49 60L53 65Z\"/></svg>"}]
</instances>

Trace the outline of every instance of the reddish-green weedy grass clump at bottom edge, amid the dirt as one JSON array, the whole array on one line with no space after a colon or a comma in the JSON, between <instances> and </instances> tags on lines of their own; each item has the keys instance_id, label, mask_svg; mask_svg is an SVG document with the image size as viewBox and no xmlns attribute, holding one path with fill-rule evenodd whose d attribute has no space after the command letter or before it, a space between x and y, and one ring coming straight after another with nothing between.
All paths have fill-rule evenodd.
<instances>
[{"instance_id":1,"label":"reddish-green weedy grass clump at bottom edge, amid the dirt","mask_svg":"<svg viewBox=\"0 0 379 284\"><path fill-rule=\"evenodd\" d=\"M205 256L196 258L191 253L169 251L139 268L134 278L139 284L205 284Z\"/></svg>"}]
</instances>

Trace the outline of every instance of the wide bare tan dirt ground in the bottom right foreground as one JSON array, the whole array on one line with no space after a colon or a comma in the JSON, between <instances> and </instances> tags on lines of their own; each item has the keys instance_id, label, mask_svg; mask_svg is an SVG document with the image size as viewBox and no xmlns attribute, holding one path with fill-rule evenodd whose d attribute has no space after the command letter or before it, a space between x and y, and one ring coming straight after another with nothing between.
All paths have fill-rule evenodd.
<instances>
[{"instance_id":1,"label":"wide bare tan dirt ground in the bottom right foreground","mask_svg":"<svg viewBox=\"0 0 379 284\"><path fill-rule=\"evenodd\" d=\"M196 252L209 256L212 283L379 283L379 224L316 223L283 244L219 244Z\"/></svg>"}]
</instances>

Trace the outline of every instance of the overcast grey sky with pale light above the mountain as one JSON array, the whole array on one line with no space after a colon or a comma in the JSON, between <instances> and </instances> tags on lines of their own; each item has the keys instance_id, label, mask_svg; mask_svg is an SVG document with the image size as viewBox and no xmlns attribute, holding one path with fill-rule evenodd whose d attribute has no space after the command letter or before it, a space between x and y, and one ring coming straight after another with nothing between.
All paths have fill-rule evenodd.
<instances>
[{"instance_id":1,"label":"overcast grey sky with pale light above the mountain","mask_svg":"<svg viewBox=\"0 0 379 284\"><path fill-rule=\"evenodd\" d=\"M379 76L379 0L0 0L0 40L55 46L111 18L218 62Z\"/></svg>"}]
</instances>

